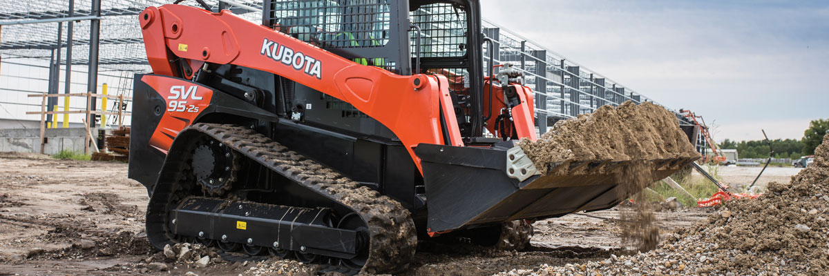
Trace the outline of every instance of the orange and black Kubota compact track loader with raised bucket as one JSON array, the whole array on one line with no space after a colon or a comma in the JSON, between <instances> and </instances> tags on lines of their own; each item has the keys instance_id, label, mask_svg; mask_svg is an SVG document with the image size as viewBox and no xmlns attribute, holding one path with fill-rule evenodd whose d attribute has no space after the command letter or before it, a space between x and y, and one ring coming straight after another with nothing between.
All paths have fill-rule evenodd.
<instances>
[{"instance_id":1,"label":"orange and black Kubota compact track loader with raised bucket","mask_svg":"<svg viewBox=\"0 0 829 276\"><path fill-rule=\"evenodd\" d=\"M484 62L477 0L266 0L262 24L171 4L138 20L153 74L134 79L129 177L158 249L394 272L419 239L521 246L531 220L625 198L623 162L536 165L516 146L536 139L533 92ZM648 162L658 179L691 161Z\"/></svg>"}]
</instances>

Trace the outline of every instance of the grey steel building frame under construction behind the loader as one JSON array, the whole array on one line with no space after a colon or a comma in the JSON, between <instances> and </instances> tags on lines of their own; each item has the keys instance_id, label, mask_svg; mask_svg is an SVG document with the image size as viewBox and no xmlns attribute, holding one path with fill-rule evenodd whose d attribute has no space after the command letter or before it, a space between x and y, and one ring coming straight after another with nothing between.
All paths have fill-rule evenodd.
<instances>
[{"instance_id":1,"label":"grey steel building frame under construction behind the loader","mask_svg":"<svg viewBox=\"0 0 829 276\"><path fill-rule=\"evenodd\" d=\"M49 93L58 91L56 79L61 65L67 71L71 65L89 65L87 87L95 93L99 67L103 70L134 72L149 70L135 16L144 7L167 2L169 1L68 0L67 5L67 0L36 0L23 5L26 7L19 7L21 5L17 1L0 0L0 54L4 59L48 60L52 72ZM260 1L206 2L216 11L230 9L250 21L261 22ZM183 3L197 5L195 1ZM627 86L494 22L484 20L483 30L484 35L496 45L487 49L485 61L488 61L488 51L494 51L495 64L516 65L525 72L526 85L535 90L539 133L545 133L552 123L560 119L591 113L604 104L618 105L628 100L635 103L656 103ZM89 53L80 56L75 48L88 50ZM69 91L69 78L70 74L66 74L65 91ZM50 108L51 105L52 103ZM677 118L682 124L691 124L679 115Z\"/></svg>"}]
</instances>

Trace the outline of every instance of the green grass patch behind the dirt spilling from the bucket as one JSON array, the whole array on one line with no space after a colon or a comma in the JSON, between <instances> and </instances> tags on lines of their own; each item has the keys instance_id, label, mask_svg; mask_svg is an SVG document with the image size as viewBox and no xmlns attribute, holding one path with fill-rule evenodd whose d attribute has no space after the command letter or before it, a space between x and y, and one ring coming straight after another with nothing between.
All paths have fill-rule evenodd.
<instances>
[{"instance_id":1,"label":"green grass patch behind the dirt spilling from the bucket","mask_svg":"<svg viewBox=\"0 0 829 276\"><path fill-rule=\"evenodd\" d=\"M706 166L710 175L722 182L722 179L718 175L718 168L716 166ZM707 178L699 174L691 174L691 172L676 172L671 175L671 178L679 186L688 191L691 196L694 196L694 198L691 198L691 196L688 196L682 191L674 189L665 182L659 181L650 186L651 190L656 191L656 194L647 192L645 196L647 201L662 201L668 197L676 197L676 200L680 201L683 206L696 206L697 200L707 198L720 190L719 187L711 183Z\"/></svg>"}]
</instances>

